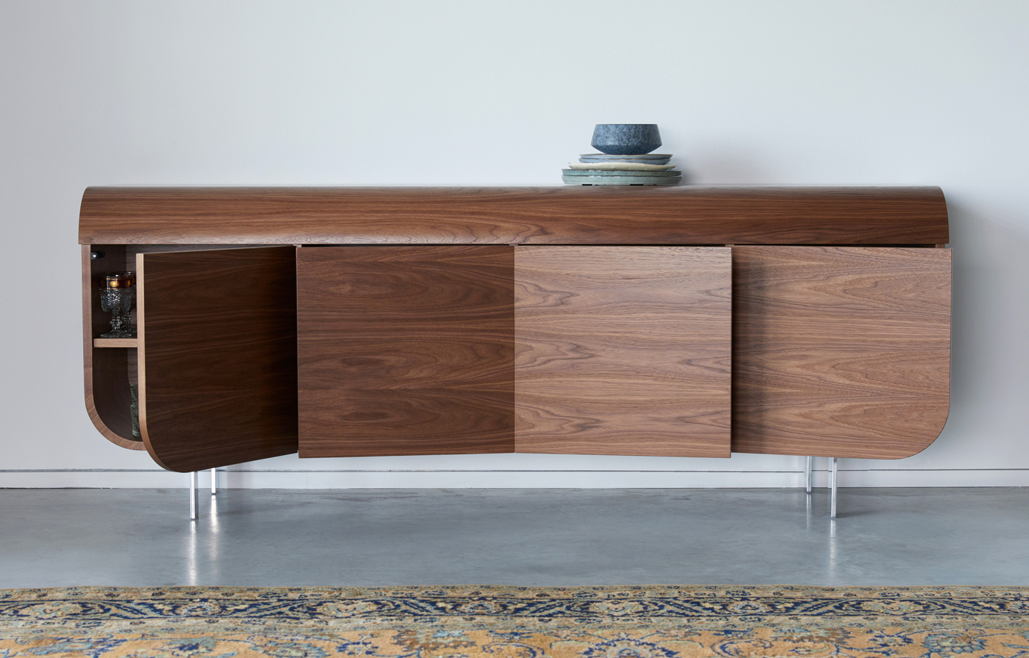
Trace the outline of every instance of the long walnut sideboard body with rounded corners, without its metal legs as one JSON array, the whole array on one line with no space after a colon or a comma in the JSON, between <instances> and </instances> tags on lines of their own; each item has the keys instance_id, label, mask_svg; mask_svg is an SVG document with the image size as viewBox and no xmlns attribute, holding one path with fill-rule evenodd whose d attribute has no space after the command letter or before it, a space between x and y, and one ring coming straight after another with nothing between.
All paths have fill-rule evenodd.
<instances>
[{"instance_id":1,"label":"long walnut sideboard body with rounded corners, without its metal legs","mask_svg":"<svg viewBox=\"0 0 1029 658\"><path fill-rule=\"evenodd\" d=\"M183 472L899 459L947 419L948 242L935 187L88 188L86 410ZM126 269L138 337L98 338Z\"/></svg>"}]
</instances>

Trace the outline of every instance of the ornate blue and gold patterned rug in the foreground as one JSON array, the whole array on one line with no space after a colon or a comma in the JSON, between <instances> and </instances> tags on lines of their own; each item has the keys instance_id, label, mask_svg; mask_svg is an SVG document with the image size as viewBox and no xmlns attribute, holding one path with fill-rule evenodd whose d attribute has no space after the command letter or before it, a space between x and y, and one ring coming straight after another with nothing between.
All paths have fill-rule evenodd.
<instances>
[{"instance_id":1,"label":"ornate blue and gold patterned rug in the foreground","mask_svg":"<svg viewBox=\"0 0 1029 658\"><path fill-rule=\"evenodd\" d=\"M14 656L1029 656L1029 588L0 589Z\"/></svg>"}]
</instances>

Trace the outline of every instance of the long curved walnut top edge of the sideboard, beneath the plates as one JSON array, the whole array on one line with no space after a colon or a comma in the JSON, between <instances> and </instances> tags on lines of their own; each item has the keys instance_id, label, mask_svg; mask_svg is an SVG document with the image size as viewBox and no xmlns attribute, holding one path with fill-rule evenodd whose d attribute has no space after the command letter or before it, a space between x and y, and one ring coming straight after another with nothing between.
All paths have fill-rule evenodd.
<instances>
[{"instance_id":1,"label":"long curved walnut top edge of the sideboard, beneath the plates","mask_svg":"<svg viewBox=\"0 0 1029 658\"><path fill-rule=\"evenodd\" d=\"M943 245L938 187L90 187L79 243Z\"/></svg>"}]
</instances>

